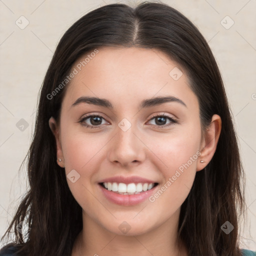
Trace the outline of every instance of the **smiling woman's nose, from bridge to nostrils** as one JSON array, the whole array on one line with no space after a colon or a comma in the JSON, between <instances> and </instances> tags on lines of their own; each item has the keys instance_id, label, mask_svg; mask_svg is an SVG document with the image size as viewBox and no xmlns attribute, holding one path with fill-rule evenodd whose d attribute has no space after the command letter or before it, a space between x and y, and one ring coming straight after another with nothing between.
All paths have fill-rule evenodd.
<instances>
[{"instance_id":1,"label":"smiling woman's nose, from bridge to nostrils","mask_svg":"<svg viewBox=\"0 0 256 256\"><path fill-rule=\"evenodd\" d=\"M121 166L134 166L145 159L146 146L140 138L135 125L123 131L117 127L117 132L109 143L108 160Z\"/></svg>"}]
</instances>

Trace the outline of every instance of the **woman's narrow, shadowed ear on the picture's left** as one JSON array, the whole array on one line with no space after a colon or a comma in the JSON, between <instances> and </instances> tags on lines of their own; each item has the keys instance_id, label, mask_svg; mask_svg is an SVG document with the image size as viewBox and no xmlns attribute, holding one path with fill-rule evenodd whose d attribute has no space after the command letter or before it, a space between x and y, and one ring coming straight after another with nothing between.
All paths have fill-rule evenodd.
<instances>
[{"instance_id":1,"label":"woman's narrow, shadowed ear on the picture's left","mask_svg":"<svg viewBox=\"0 0 256 256\"><path fill-rule=\"evenodd\" d=\"M60 127L57 125L56 120L51 116L49 118L49 126L50 129L55 137L55 141L56 141L56 155L57 155L57 164L60 167L64 167L64 157L63 157L63 153L62 153L62 147L61 147L61 140L60 140Z\"/></svg>"}]
</instances>

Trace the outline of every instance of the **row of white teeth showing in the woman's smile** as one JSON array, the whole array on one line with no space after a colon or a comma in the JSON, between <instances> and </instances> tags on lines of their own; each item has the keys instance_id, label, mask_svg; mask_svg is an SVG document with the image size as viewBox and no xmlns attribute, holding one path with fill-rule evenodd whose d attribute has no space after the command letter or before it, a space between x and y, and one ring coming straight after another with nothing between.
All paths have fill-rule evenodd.
<instances>
[{"instance_id":1,"label":"row of white teeth showing in the woman's smile","mask_svg":"<svg viewBox=\"0 0 256 256\"><path fill-rule=\"evenodd\" d=\"M104 189L108 191L112 191L117 194L133 195L133 194L139 194L139 193L143 193L148 190L151 190L156 185L158 185L158 183L157 182L155 183L100 182L99 185L102 186Z\"/></svg>"}]
</instances>

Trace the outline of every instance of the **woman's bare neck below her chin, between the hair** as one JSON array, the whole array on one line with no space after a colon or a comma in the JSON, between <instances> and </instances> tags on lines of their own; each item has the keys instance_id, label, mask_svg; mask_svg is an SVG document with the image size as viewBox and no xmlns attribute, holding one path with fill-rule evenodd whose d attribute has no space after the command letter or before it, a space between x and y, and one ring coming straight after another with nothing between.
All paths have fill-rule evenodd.
<instances>
[{"instance_id":1,"label":"woman's bare neck below her chin, between the hair","mask_svg":"<svg viewBox=\"0 0 256 256\"><path fill-rule=\"evenodd\" d=\"M184 243L177 244L179 211L146 233L119 235L106 230L83 211L83 229L74 242L72 256L188 256ZM86 228L85 228L86 227Z\"/></svg>"}]
</instances>

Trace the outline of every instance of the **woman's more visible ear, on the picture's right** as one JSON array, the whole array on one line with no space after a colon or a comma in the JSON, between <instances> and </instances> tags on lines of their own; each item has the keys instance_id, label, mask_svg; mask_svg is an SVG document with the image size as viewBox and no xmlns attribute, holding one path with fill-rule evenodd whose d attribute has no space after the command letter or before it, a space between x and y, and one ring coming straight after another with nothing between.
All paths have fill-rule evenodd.
<instances>
[{"instance_id":1,"label":"woman's more visible ear, on the picture's right","mask_svg":"<svg viewBox=\"0 0 256 256\"><path fill-rule=\"evenodd\" d=\"M198 158L196 171L203 169L211 160L215 153L219 134L221 131L221 118L217 114L213 114L209 126L206 128L202 143L201 143L201 154ZM200 161L203 162L200 162Z\"/></svg>"}]
</instances>

